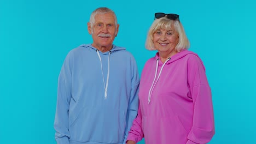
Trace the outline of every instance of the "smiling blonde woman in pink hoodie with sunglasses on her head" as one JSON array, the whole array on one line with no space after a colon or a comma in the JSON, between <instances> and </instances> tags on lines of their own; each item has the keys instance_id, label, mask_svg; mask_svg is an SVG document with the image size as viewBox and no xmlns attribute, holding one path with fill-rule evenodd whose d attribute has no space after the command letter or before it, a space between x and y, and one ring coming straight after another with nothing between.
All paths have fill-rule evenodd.
<instances>
[{"instance_id":1,"label":"smiling blonde woman in pink hoodie with sunglasses on her head","mask_svg":"<svg viewBox=\"0 0 256 144\"><path fill-rule=\"evenodd\" d=\"M139 109L127 137L146 144L207 143L214 135L211 88L177 14L156 13L146 41Z\"/></svg>"}]
</instances>

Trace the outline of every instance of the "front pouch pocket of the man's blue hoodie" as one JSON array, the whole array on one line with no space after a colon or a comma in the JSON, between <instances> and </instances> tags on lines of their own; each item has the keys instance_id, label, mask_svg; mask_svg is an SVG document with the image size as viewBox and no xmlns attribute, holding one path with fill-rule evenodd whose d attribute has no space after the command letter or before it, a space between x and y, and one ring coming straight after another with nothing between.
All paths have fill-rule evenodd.
<instances>
[{"instance_id":1,"label":"front pouch pocket of the man's blue hoodie","mask_svg":"<svg viewBox=\"0 0 256 144\"><path fill-rule=\"evenodd\" d=\"M84 106L71 118L70 140L77 142L121 143L124 140L124 112Z\"/></svg>"}]
</instances>

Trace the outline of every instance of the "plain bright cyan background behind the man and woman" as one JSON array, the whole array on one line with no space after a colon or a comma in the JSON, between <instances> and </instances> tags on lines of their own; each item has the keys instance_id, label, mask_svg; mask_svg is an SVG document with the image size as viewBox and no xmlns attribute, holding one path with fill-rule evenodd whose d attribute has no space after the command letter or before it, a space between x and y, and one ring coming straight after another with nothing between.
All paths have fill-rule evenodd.
<instances>
[{"instance_id":1,"label":"plain bright cyan background behind the man and woman","mask_svg":"<svg viewBox=\"0 0 256 144\"><path fill-rule=\"evenodd\" d=\"M117 14L114 44L132 52L140 74L155 55L144 48L154 13L179 14L212 88L216 135L210 143L255 143L253 0L0 0L0 143L56 143L57 77L68 51L92 43L86 23L98 7Z\"/></svg>"}]
</instances>

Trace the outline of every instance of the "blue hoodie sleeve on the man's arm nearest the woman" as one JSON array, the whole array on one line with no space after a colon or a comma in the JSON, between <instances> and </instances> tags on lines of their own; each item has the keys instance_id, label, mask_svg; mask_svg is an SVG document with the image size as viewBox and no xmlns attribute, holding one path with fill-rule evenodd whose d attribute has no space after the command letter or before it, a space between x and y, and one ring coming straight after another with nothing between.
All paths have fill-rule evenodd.
<instances>
[{"instance_id":1,"label":"blue hoodie sleeve on the man's arm nearest the woman","mask_svg":"<svg viewBox=\"0 0 256 144\"><path fill-rule=\"evenodd\" d=\"M131 92L130 99L127 108L127 116L126 116L126 128L124 135L124 142L126 143L126 137L131 128L133 120L136 118L138 113L138 87L139 87L139 74L135 59L132 58L132 79L131 79Z\"/></svg>"}]
</instances>

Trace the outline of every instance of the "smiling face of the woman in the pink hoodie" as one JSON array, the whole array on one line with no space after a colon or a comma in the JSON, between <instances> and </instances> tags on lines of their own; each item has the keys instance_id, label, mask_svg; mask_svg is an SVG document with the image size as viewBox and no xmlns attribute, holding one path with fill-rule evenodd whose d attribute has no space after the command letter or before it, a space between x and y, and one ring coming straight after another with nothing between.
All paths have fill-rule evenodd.
<instances>
[{"instance_id":1,"label":"smiling face of the woman in the pink hoodie","mask_svg":"<svg viewBox=\"0 0 256 144\"><path fill-rule=\"evenodd\" d=\"M171 29L158 29L153 34L153 43L158 50L160 55L165 55L168 57L173 56L177 51L175 50L176 45L178 44L178 34L174 31L174 28Z\"/></svg>"}]
</instances>

